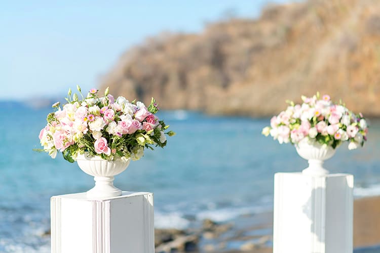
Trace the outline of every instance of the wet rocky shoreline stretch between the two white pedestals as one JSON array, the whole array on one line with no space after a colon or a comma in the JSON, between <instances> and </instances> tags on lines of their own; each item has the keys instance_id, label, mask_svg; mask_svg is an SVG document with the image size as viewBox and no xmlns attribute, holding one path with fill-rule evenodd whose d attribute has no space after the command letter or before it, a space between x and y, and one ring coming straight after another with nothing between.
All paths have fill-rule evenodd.
<instances>
[{"instance_id":1,"label":"wet rocky shoreline stretch between the two white pedestals","mask_svg":"<svg viewBox=\"0 0 380 253\"><path fill-rule=\"evenodd\" d=\"M264 213L226 223L206 219L199 228L186 230L156 229L156 252L269 252L272 227L272 213Z\"/></svg>"}]
</instances>

